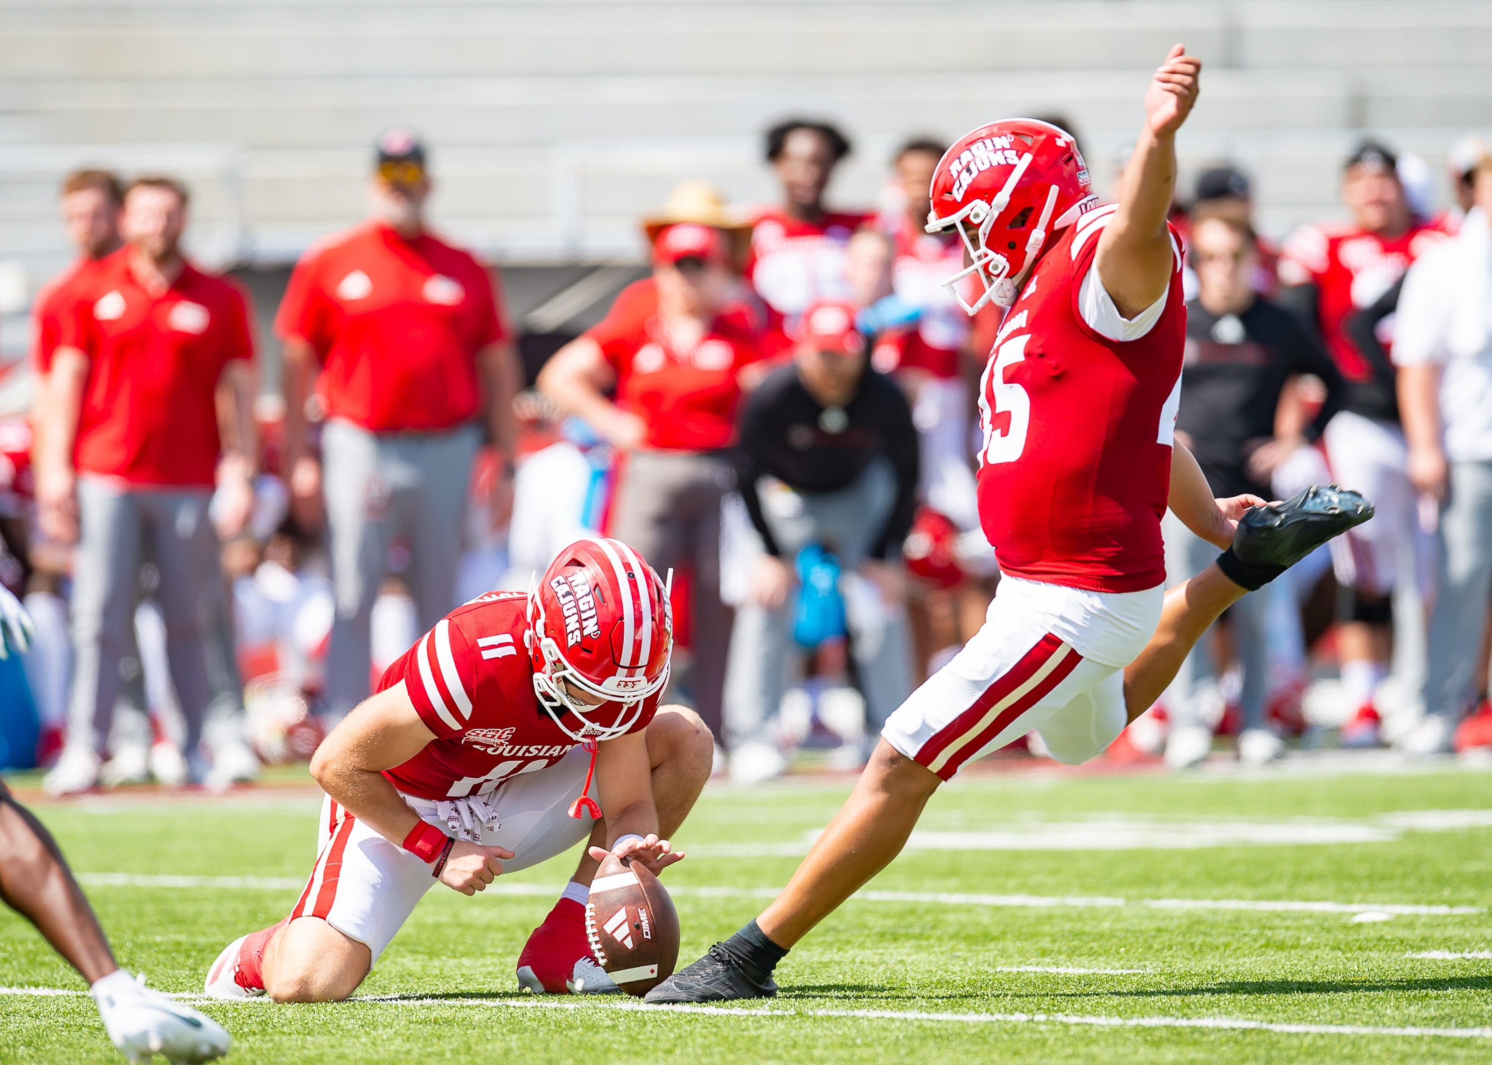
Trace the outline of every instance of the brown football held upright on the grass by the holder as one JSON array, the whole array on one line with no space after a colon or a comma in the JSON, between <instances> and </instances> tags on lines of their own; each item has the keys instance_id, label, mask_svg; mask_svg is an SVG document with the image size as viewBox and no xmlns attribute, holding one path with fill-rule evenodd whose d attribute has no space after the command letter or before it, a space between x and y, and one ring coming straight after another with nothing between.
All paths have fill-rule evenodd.
<instances>
[{"instance_id":1,"label":"brown football held upright on the grass by the holder","mask_svg":"<svg viewBox=\"0 0 1492 1065\"><path fill-rule=\"evenodd\" d=\"M679 913L640 862L607 855L585 904L591 952L616 986L642 998L679 964Z\"/></svg>"}]
</instances>

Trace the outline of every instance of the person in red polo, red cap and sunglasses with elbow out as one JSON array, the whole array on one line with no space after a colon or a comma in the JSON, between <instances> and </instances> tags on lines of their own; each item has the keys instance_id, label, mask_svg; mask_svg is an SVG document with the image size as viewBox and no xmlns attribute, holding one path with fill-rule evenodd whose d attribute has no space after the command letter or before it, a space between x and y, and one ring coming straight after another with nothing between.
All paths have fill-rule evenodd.
<instances>
[{"instance_id":1,"label":"person in red polo, red cap and sunglasses with elbow out","mask_svg":"<svg viewBox=\"0 0 1492 1065\"><path fill-rule=\"evenodd\" d=\"M659 573L688 567L689 692L716 735L731 631L721 506L733 485L743 376L762 356L761 336L734 304L733 240L745 228L713 194L686 215L648 219L652 276L624 288L606 318L539 374L545 395L618 452L607 534Z\"/></svg>"}]
</instances>

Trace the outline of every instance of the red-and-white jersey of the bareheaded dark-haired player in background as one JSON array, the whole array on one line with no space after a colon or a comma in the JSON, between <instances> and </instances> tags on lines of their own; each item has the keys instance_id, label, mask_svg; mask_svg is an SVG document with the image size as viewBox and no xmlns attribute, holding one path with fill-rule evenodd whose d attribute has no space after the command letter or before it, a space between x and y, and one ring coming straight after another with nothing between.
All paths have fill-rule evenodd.
<instances>
[{"instance_id":1,"label":"red-and-white jersey of the bareheaded dark-haired player in background","mask_svg":"<svg viewBox=\"0 0 1492 1065\"><path fill-rule=\"evenodd\" d=\"M864 212L831 212L818 222L804 222L782 207L765 207L756 215L746 277L771 312L773 324L801 315L815 300L849 295L844 246L873 218Z\"/></svg>"}]
</instances>

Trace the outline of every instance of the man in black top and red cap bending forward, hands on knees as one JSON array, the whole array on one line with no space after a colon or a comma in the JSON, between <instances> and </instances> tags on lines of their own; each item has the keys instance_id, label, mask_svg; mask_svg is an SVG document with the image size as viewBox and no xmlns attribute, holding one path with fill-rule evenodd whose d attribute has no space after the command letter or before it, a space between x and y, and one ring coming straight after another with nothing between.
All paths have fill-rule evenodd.
<instances>
[{"instance_id":1,"label":"man in black top and red cap bending forward, hands on knees","mask_svg":"<svg viewBox=\"0 0 1492 1065\"><path fill-rule=\"evenodd\" d=\"M912 694L901 543L919 455L906 395L870 368L850 303L804 312L794 362L756 388L739 419L737 483L759 555L731 634L725 734L733 776L761 780L783 768L771 723L788 683L788 594L804 547L833 552L844 573L867 735Z\"/></svg>"}]
</instances>

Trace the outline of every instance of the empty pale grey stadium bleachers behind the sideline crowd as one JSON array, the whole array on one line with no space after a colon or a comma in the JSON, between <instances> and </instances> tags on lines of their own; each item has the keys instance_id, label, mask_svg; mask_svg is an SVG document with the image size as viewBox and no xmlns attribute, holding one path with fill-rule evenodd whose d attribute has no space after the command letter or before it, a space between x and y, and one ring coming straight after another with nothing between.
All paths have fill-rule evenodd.
<instances>
[{"instance_id":1,"label":"empty pale grey stadium bleachers behind the sideline crowd","mask_svg":"<svg viewBox=\"0 0 1492 1065\"><path fill-rule=\"evenodd\" d=\"M1361 131L1438 172L1456 134L1492 124L1492 4L1476 0L43 7L0 0L0 248L36 280L66 255L57 176L139 169L142 145L192 180L200 255L283 263L361 215L373 136L409 124L433 145L446 230L555 263L639 255L636 216L683 176L771 195L759 133L794 112L855 137L843 203L876 198L903 136L1010 112L1070 115L1107 183L1173 40L1210 64L1185 166L1250 169L1273 233L1335 213Z\"/></svg>"}]
</instances>

